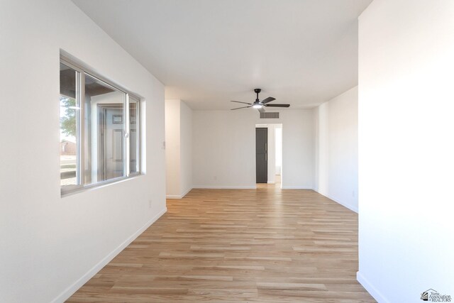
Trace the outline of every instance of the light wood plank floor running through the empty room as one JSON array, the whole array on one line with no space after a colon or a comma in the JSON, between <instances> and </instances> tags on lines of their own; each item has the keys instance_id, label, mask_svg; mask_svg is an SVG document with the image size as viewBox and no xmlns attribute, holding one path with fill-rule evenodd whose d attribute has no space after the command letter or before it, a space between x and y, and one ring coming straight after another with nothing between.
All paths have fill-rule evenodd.
<instances>
[{"instance_id":1,"label":"light wood plank floor running through the empty room","mask_svg":"<svg viewBox=\"0 0 454 303\"><path fill-rule=\"evenodd\" d=\"M375 302L358 216L311 190L193 189L67 302Z\"/></svg>"}]
</instances>

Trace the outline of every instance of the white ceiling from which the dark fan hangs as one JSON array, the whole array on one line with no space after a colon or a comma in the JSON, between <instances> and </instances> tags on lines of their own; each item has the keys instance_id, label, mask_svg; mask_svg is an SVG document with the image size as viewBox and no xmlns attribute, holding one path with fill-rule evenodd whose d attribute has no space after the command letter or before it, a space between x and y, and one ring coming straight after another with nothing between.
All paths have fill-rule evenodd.
<instances>
[{"instance_id":1,"label":"white ceiling from which the dark fan hangs","mask_svg":"<svg viewBox=\"0 0 454 303\"><path fill-rule=\"evenodd\" d=\"M260 99L309 108L358 84L372 0L73 0L192 109Z\"/></svg>"}]
</instances>

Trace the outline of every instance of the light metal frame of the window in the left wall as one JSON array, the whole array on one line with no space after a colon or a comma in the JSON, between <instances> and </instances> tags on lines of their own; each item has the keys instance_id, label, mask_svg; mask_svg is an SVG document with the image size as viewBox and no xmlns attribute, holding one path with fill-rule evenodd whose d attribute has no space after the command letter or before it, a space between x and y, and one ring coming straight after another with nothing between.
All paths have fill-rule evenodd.
<instances>
[{"instance_id":1,"label":"light metal frame of the window in the left wall","mask_svg":"<svg viewBox=\"0 0 454 303\"><path fill-rule=\"evenodd\" d=\"M80 192L85 189L92 189L95 187L102 187L106 184L116 183L121 180L127 180L132 177L136 177L138 175L142 175L141 172L141 99L138 97L137 94L133 94L129 92L127 89L121 87L121 85L112 82L109 79L93 72L91 69L81 65L74 60L70 59L69 57L60 54L60 64L66 65L67 67L72 68L76 71L76 104L79 106L79 110L77 111L76 119L77 119L77 130L76 130L76 138L77 138L77 165L76 165L76 177L77 183L75 185L66 185L62 187L60 185L60 193L61 196L65 196L67 194L72 194L75 192ZM123 148L123 156L124 156L124 164L123 170L125 174L121 177L115 177L109 180L104 180L96 183L91 184L84 184L85 180L85 151L84 151L84 144L85 138L87 136L86 130L84 129L84 95L85 95L85 75L96 79L97 81L101 82L101 84L106 85L106 87L110 87L118 92L122 92L124 94L124 103L123 103L123 124L125 128L125 135L123 138L124 148ZM136 114L135 114L135 123L136 123L136 152L135 152L135 172L131 172L131 154L130 154L130 146L131 146L131 123L130 123L130 99L133 99L136 105ZM61 180L61 179L60 179Z\"/></svg>"}]
</instances>

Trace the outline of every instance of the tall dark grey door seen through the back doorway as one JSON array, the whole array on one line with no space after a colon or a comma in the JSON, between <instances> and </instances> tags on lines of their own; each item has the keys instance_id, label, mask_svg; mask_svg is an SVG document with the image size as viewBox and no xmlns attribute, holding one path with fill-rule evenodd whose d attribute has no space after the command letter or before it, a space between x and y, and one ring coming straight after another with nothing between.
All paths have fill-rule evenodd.
<instances>
[{"instance_id":1,"label":"tall dark grey door seen through the back doorway","mask_svg":"<svg viewBox=\"0 0 454 303\"><path fill-rule=\"evenodd\" d=\"M255 128L255 179L257 183L268 182L268 128Z\"/></svg>"}]
</instances>

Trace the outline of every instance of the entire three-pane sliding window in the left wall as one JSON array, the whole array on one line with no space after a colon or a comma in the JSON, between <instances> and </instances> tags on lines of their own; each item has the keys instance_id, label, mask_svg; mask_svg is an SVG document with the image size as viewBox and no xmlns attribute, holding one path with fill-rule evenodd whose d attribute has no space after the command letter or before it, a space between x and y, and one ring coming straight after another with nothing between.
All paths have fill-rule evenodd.
<instances>
[{"instance_id":1,"label":"entire three-pane sliding window in the left wall","mask_svg":"<svg viewBox=\"0 0 454 303\"><path fill-rule=\"evenodd\" d=\"M137 97L62 57L62 193L140 173L139 110Z\"/></svg>"}]
</instances>

